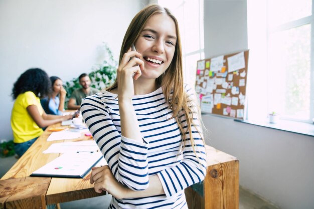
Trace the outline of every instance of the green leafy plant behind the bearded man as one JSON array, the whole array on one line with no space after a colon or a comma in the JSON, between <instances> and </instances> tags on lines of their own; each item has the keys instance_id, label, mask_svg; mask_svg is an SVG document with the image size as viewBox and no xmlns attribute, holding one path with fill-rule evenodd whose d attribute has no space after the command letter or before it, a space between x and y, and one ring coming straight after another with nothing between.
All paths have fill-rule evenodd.
<instances>
[{"instance_id":1,"label":"green leafy plant behind the bearded man","mask_svg":"<svg viewBox=\"0 0 314 209\"><path fill-rule=\"evenodd\" d=\"M112 52L107 46L103 43L101 50L104 52L104 61L102 64L98 64L92 67L92 72L88 75L91 80L91 87L102 90L109 87L116 79L116 69L117 62L113 59ZM72 92L75 89L81 88L78 78L73 78L71 81L67 81L64 85L65 90L67 91L66 95L66 104L70 99Z\"/></svg>"}]
</instances>

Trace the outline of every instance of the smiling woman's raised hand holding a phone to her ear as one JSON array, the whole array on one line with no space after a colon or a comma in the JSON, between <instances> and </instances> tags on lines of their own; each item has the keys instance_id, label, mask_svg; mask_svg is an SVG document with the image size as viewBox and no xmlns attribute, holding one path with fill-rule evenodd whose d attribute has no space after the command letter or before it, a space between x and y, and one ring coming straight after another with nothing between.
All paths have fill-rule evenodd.
<instances>
[{"instance_id":1,"label":"smiling woman's raised hand holding a phone to her ear","mask_svg":"<svg viewBox=\"0 0 314 209\"><path fill-rule=\"evenodd\" d=\"M144 62L139 59L142 55L131 48L123 55L117 69L118 95L121 99L132 99L134 95L133 79L137 80L141 76ZM132 59L134 58L135 59Z\"/></svg>"}]
</instances>

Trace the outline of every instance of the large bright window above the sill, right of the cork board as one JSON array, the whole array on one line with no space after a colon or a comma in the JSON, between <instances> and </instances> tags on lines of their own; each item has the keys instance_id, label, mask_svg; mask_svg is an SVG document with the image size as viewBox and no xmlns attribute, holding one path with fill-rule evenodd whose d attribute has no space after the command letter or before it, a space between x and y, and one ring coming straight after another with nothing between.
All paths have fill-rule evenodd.
<instances>
[{"instance_id":1,"label":"large bright window above the sill, right of the cork board","mask_svg":"<svg viewBox=\"0 0 314 209\"><path fill-rule=\"evenodd\" d=\"M247 0L249 119L273 111L282 119L314 117L312 5L312 0Z\"/></svg>"}]
</instances>

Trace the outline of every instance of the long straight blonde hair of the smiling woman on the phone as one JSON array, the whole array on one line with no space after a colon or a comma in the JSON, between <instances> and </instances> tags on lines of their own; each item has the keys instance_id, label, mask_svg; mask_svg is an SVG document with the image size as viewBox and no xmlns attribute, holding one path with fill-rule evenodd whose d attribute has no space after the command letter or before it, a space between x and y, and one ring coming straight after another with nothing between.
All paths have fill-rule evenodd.
<instances>
[{"instance_id":1,"label":"long straight blonde hair of the smiling woman on the phone","mask_svg":"<svg viewBox=\"0 0 314 209\"><path fill-rule=\"evenodd\" d=\"M195 142L192 135L192 122L193 122L193 110L191 105L192 98L188 98L184 90L184 81L183 81L183 69L182 69L182 49L181 49L181 38L179 33L178 21L174 15L170 12L169 9L163 8L159 5L150 5L142 9L136 14L136 16L131 21L122 42L119 64L121 63L123 55L128 51L133 43L139 37L141 31L143 30L144 25L147 20L156 14L167 14L176 25L177 33L177 43L175 46L175 54L173 60L166 70L166 72L156 79L156 84L163 87L163 93L165 95L165 100L168 102L169 108L173 111L173 117L177 120L178 126L182 133L182 146L185 146L186 143L186 133L190 134L190 140L195 151ZM110 91L114 88L117 88L117 80L108 87L106 90ZM196 104L194 104L196 105ZM188 131L185 131L183 125L180 121L180 115L186 115L186 123ZM197 115L200 118L200 115Z\"/></svg>"}]
</instances>

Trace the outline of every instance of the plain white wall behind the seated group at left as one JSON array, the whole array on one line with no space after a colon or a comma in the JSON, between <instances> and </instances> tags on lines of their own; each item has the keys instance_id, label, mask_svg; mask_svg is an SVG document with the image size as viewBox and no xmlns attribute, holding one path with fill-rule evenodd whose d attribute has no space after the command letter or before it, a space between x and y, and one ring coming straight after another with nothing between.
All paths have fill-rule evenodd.
<instances>
[{"instance_id":1,"label":"plain white wall behind the seated group at left","mask_svg":"<svg viewBox=\"0 0 314 209\"><path fill-rule=\"evenodd\" d=\"M32 67L69 81L102 62L107 42L118 60L125 31L144 0L0 0L1 135L13 139L13 83Z\"/></svg>"}]
</instances>

